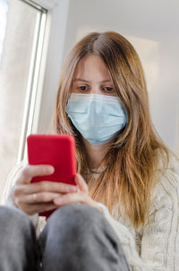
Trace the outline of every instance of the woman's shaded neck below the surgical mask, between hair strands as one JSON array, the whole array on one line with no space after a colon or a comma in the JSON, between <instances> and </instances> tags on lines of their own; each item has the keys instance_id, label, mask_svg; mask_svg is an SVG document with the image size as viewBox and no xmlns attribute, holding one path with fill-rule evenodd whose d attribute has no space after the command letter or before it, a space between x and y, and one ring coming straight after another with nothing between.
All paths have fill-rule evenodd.
<instances>
[{"instance_id":1,"label":"woman's shaded neck below the surgical mask, between hair strands","mask_svg":"<svg viewBox=\"0 0 179 271\"><path fill-rule=\"evenodd\" d=\"M88 161L90 164L90 169L98 169L99 166L102 166L101 162L107 151L110 148L111 142L105 144L94 145L90 144L89 141L83 138L83 142L87 151Z\"/></svg>"}]
</instances>

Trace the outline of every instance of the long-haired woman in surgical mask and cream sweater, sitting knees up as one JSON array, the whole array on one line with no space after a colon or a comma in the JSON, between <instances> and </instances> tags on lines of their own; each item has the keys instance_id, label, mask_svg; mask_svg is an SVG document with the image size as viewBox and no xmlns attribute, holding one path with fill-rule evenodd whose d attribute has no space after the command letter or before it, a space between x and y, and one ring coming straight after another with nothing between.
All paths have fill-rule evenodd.
<instances>
[{"instance_id":1,"label":"long-haired woman in surgical mask and cream sweater, sitting knees up","mask_svg":"<svg viewBox=\"0 0 179 271\"><path fill-rule=\"evenodd\" d=\"M41 257L43 270L176 271L178 163L152 126L141 62L124 37L91 33L72 49L57 93L54 129L75 137L77 186L30 184L34 176L51 174L50 165L22 162L15 169L6 205L16 211L4 207L0 215L8 232L10 217L19 229L11 251L21 240L14 270L35 270ZM56 206L47 223L38 219L39 212ZM38 244L29 217L17 209L31 215ZM27 241L33 253L24 249Z\"/></svg>"}]
</instances>

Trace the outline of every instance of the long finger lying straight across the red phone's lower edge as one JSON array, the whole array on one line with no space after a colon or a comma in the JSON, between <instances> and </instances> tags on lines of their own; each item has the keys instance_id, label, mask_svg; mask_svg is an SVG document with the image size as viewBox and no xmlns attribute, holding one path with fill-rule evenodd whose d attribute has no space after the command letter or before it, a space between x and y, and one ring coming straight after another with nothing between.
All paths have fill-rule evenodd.
<instances>
[{"instance_id":1,"label":"long finger lying straight across the red phone's lower edge","mask_svg":"<svg viewBox=\"0 0 179 271\"><path fill-rule=\"evenodd\" d=\"M22 194L33 194L38 192L56 192L56 193L72 193L77 192L77 187L63 182L55 181L39 181L36 183L17 185L13 189L13 195L18 197Z\"/></svg>"}]
</instances>

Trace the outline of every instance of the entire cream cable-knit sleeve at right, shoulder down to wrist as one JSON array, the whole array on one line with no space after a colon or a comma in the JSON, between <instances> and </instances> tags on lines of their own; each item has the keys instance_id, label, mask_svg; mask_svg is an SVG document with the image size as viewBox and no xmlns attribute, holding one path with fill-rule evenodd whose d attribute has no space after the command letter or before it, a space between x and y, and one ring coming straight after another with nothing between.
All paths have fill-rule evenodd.
<instances>
[{"instance_id":1,"label":"entire cream cable-knit sleeve at right, shoulder down to wrist","mask_svg":"<svg viewBox=\"0 0 179 271\"><path fill-rule=\"evenodd\" d=\"M142 231L140 255L128 228L117 222L106 206L100 206L121 241L132 271L178 271L179 177L173 170L167 170L159 180L152 202L149 223Z\"/></svg>"}]
</instances>

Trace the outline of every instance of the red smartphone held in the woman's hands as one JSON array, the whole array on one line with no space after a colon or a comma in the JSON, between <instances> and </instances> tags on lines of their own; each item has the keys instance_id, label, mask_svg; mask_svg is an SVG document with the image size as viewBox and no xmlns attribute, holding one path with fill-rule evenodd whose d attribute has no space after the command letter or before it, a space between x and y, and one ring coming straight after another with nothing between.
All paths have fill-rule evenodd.
<instances>
[{"instance_id":1,"label":"red smartphone held in the woman's hands","mask_svg":"<svg viewBox=\"0 0 179 271\"><path fill-rule=\"evenodd\" d=\"M51 175L37 176L31 182L42 180L76 185L75 141L70 135L30 135L27 138L30 165L49 164L55 168ZM55 210L39 213L48 217Z\"/></svg>"}]
</instances>

